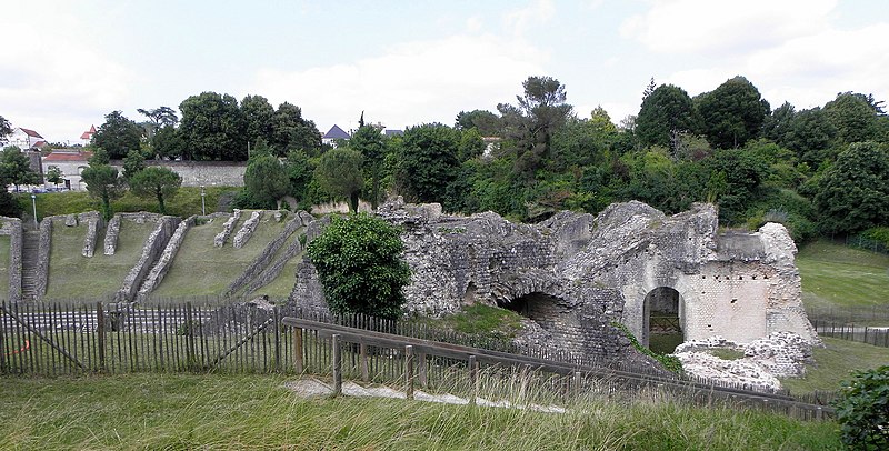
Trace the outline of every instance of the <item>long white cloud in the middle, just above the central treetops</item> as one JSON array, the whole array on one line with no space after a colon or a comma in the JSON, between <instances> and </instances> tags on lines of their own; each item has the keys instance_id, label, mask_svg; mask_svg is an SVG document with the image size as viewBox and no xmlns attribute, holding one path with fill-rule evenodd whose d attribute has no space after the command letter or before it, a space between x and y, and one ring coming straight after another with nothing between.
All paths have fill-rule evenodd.
<instances>
[{"instance_id":1,"label":"long white cloud in the middle, just above the central treetops","mask_svg":"<svg viewBox=\"0 0 889 451\"><path fill-rule=\"evenodd\" d=\"M353 127L361 111L389 128L451 124L461 110L493 110L515 100L528 76L542 73L545 59L521 40L455 36L399 44L348 64L261 69L249 91L300 106L322 132L333 123Z\"/></svg>"}]
</instances>

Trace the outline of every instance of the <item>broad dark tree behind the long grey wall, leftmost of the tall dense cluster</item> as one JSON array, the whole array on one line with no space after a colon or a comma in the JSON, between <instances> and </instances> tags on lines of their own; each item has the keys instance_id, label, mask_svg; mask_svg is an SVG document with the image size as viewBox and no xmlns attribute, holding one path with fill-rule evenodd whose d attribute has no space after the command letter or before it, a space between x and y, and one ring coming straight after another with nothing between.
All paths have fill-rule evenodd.
<instances>
[{"instance_id":1,"label":"broad dark tree behind the long grey wall, leftmost of the tall dense cluster","mask_svg":"<svg viewBox=\"0 0 889 451\"><path fill-rule=\"evenodd\" d=\"M237 99L202 92L183 100L179 110L182 111L179 132L186 141L186 159L247 160L244 121Z\"/></svg>"}]
</instances>

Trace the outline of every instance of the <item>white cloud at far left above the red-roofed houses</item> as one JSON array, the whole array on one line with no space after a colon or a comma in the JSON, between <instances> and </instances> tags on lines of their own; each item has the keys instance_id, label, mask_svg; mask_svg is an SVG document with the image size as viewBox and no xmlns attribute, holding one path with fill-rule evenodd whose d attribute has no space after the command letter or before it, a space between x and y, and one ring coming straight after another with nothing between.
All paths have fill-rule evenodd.
<instances>
[{"instance_id":1,"label":"white cloud at far left above the red-roofed houses","mask_svg":"<svg viewBox=\"0 0 889 451\"><path fill-rule=\"evenodd\" d=\"M7 42L0 47L0 114L13 127L77 142L97 117L120 108L132 76L101 53L64 6L13 2L3 9L7 18L39 17L44 24L4 21L0 28Z\"/></svg>"}]
</instances>

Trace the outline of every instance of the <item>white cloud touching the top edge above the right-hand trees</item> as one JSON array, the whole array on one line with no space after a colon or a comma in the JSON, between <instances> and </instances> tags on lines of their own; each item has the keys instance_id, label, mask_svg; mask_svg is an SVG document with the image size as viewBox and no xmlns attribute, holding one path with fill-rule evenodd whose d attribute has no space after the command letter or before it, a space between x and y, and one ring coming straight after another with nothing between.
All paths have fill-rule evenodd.
<instances>
[{"instance_id":1,"label":"white cloud touching the top edge above the right-hand trees","mask_svg":"<svg viewBox=\"0 0 889 451\"><path fill-rule=\"evenodd\" d=\"M837 0L656 1L621 33L662 53L725 57L823 29Z\"/></svg>"}]
</instances>

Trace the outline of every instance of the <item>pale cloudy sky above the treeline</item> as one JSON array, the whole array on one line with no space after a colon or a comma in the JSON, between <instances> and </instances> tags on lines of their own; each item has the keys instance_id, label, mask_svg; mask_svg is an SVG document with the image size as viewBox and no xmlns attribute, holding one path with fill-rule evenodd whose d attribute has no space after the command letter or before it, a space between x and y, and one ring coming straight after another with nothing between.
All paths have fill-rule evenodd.
<instances>
[{"instance_id":1,"label":"pale cloudy sky above the treeline","mask_svg":"<svg viewBox=\"0 0 889 451\"><path fill-rule=\"evenodd\" d=\"M886 0L4 0L0 116L79 143L111 111L204 91L290 102L333 124L452 126L516 103L530 76L578 117L636 114L651 78L690 96L735 76L772 106L889 101Z\"/></svg>"}]
</instances>

